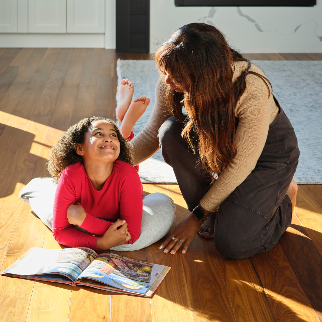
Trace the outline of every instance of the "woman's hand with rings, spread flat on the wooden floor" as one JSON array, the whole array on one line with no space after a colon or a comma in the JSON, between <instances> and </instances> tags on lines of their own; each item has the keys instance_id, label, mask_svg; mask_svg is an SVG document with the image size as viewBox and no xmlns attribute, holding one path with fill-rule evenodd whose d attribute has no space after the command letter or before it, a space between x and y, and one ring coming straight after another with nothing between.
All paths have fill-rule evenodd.
<instances>
[{"instance_id":1,"label":"woman's hand with rings, spread flat on the wooden floor","mask_svg":"<svg viewBox=\"0 0 322 322\"><path fill-rule=\"evenodd\" d=\"M165 253L170 251L170 254L175 254L181 245L185 243L185 246L182 250L182 253L184 254L188 249L189 243L197 234L200 226L203 223L204 222L198 220L193 213L190 213L188 217L178 224L173 234L166 239L159 249L165 248ZM175 237L178 241L176 242L172 239L172 237Z\"/></svg>"}]
</instances>

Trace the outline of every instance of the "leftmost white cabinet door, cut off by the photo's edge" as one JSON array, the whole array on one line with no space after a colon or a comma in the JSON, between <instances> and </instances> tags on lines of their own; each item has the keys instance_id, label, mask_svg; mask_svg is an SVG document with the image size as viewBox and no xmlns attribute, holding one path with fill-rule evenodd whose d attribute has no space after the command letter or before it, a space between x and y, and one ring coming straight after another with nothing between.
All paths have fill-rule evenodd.
<instances>
[{"instance_id":1,"label":"leftmost white cabinet door, cut off by the photo's edge","mask_svg":"<svg viewBox=\"0 0 322 322\"><path fill-rule=\"evenodd\" d=\"M0 0L0 33L17 32L17 0Z\"/></svg>"}]
</instances>

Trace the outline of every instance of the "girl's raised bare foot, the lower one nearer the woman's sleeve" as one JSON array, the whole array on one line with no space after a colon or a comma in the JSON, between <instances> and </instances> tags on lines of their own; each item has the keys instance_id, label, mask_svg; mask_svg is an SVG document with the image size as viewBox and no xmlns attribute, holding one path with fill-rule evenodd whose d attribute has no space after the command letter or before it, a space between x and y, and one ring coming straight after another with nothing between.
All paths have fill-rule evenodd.
<instances>
[{"instance_id":1,"label":"girl's raised bare foot, the lower one nearer the woman's sleeve","mask_svg":"<svg viewBox=\"0 0 322 322\"><path fill-rule=\"evenodd\" d=\"M147 106L150 104L150 99L145 96L134 99L124 115L123 121L120 125L120 131L125 137L129 137L132 129L134 128L137 120L146 111Z\"/></svg>"}]
</instances>

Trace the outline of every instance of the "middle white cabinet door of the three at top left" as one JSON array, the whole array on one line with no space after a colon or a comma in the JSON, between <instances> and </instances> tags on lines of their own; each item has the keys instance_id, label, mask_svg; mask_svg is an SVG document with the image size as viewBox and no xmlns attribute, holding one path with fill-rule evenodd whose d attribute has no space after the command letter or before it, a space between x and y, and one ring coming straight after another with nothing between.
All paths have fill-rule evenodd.
<instances>
[{"instance_id":1,"label":"middle white cabinet door of the three at top left","mask_svg":"<svg viewBox=\"0 0 322 322\"><path fill-rule=\"evenodd\" d=\"M66 0L28 0L29 33L66 33Z\"/></svg>"}]
</instances>

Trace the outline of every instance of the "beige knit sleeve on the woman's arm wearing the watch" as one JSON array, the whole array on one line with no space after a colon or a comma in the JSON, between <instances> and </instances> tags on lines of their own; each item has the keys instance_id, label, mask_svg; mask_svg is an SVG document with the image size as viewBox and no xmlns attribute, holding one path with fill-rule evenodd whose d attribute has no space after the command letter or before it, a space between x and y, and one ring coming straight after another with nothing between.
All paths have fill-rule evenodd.
<instances>
[{"instance_id":1,"label":"beige knit sleeve on the woman's arm wearing the watch","mask_svg":"<svg viewBox=\"0 0 322 322\"><path fill-rule=\"evenodd\" d=\"M236 116L239 118L235 133L237 154L219 175L200 201L208 211L215 211L255 168L266 142L270 126L273 95L265 83L255 75L247 76L247 91L240 98Z\"/></svg>"}]
</instances>

